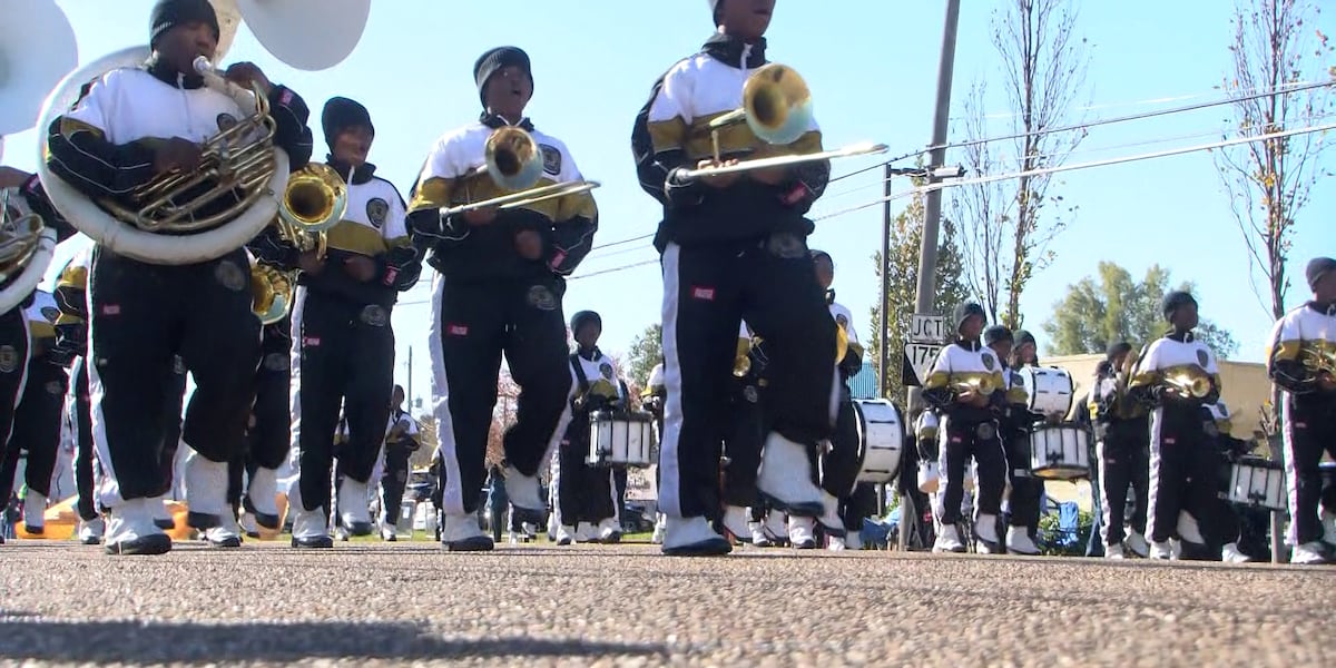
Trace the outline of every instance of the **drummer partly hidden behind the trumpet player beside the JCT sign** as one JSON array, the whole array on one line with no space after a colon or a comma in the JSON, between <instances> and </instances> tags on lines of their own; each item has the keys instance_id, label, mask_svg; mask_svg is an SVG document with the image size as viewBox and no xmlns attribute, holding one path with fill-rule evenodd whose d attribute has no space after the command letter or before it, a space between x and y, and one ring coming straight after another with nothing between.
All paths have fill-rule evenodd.
<instances>
[{"instance_id":1,"label":"drummer partly hidden behind the trumpet player beside the JCT sign","mask_svg":"<svg viewBox=\"0 0 1336 668\"><path fill-rule=\"evenodd\" d=\"M1011 484L1011 493L1007 496L1006 550L1011 554L1035 556L1039 553L1039 546L1030 536L1030 525L1039 521L1039 496L1043 493L1043 482L1030 476L1030 429L1043 417L1030 411L1021 374L1010 363L1021 363L1021 355L1013 349L1011 330L994 325L983 331L983 343L993 349L1002 362L1002 389L1006 393L999 421L1007 480Z\"/></svg>"}]
</instances>

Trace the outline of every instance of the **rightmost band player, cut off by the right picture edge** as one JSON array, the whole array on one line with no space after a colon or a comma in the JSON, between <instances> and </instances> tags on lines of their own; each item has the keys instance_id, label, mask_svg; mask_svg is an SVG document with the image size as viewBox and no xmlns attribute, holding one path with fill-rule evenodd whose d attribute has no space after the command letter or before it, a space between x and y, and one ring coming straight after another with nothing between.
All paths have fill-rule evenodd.
<instances>
[{"instance_id":1,"label":"rightmost band player, cut off by the right picture edge","mask_svg":"<svg viewBox=\"0 0 1336 668\"><path fill-rule=\"evenodd\" d=\"M1307 278L1313 298L1276 323L1267 373L1285 394L1289 560L1325 564L1336 546L1336 486L1323 489L1317 465L1324 450L1336 457L1336 259L1312 259Z\"/></svg>"}]
</instances>

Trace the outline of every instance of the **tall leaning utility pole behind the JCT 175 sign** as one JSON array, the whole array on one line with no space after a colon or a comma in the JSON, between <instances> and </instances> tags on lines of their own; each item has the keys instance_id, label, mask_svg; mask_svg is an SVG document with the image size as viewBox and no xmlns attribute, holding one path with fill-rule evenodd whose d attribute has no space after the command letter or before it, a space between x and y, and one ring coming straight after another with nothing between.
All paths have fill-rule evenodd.
<instances>
[{"instance_id":1,"label":"tall leaning utility pole behind the JCT 175 sign","mask_svg":"<svg viewBox=\"0 0 1336 668\"><path fill-rule=\"evenodd\" d=\"M946 124L951 115L951 79L955 73L955 33L961 23L961 0L947 0L946 27L942 31L942 59L937 68L937 114L933 116L933 152L929 159L930 167L946 163ZM929 182L938 180L930 176ZM942 223L942 191L933 190L927 194L927 204L923 216L923 242L919 246L918 293L914 299L914 313L931 313L933 295L937 291L937 238L938 227ZM883 306L884 310L884 306ZM922 401L918 387L910 387L908 411ZM908 544L908 508L900 508L900 536L899 549L906 549ZM915 518L916 520L916 518Z\"/></svg>"}]
</instances>

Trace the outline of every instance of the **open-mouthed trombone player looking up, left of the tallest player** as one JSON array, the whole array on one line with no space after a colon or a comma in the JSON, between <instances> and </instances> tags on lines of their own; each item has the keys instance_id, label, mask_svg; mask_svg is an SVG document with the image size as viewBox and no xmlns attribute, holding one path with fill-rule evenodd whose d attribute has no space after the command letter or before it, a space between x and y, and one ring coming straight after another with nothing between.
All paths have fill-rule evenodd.
<instances>
[{"instance_id":1,"label":"open-mouthed trombone player looking up, left of the tallest player","mask_svg":"<svg viewBox=\"0 0 1336 668\"><path fill-rule=\"evenodd\" d=\"M541 521L538 468L556 448L572 393L565 277L589 253L597 207L588 192L516 208L473 210L442 218L441 207L500 192L478 167L497 128L520 127L542 152L540 184L581 180L561 140L533 128L524 108L533 96L529 56L514 47L488 51L473 65L482 118L432 147L414 187L409 224L433 248L432 389L445 461L445 528L450 550L489 550L474 518L497 371L505 353L520 385L520 411L504 437L506 492L522 521Z\"/></svg>"}]
</instances>

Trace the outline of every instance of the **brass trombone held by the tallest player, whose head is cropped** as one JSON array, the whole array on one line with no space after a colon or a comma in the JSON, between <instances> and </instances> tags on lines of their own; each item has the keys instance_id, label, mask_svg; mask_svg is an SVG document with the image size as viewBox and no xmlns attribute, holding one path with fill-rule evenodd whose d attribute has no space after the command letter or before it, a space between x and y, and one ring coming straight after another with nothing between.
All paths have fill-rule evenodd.
<instances>
[{"instance_id":1,"label":"brass trombone held by the tallest player, whose head is cropped","mask_svg":"<svg viewBox=\"0 0 1336 668\"><path fill-rule=\"evenodd\" d=\"M807 134L812 123L812 94L807 81L794 68L770 63L756 69L743 84L743 106L709 122L709 139L713 144L715 162L720 162L719 132L728 126L747 123L758 139L774 146L788 146ZM684 180L723 176L744 171L788 167L792 164L854 158L859 155L884 154L886 144L871 142L851 144L834 151L820 151L807 155L780 155L741 160L737 164L700 167L684 170Z\"/></svg>"}]
</instances>

